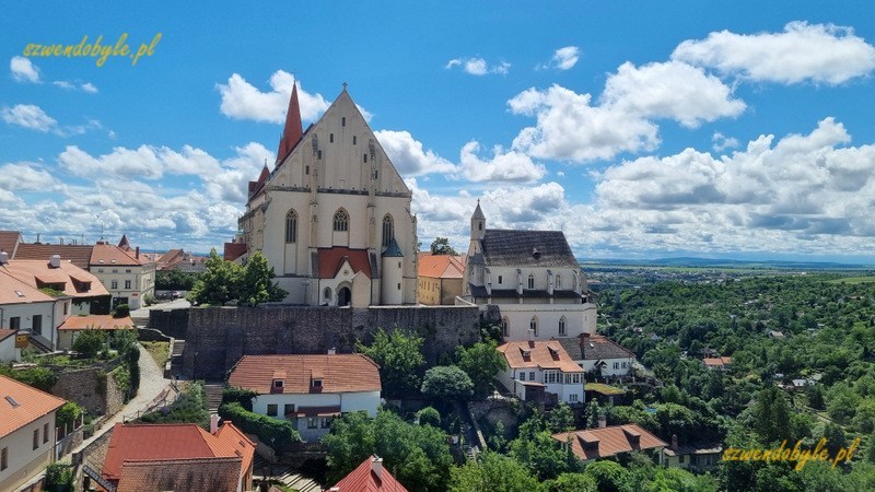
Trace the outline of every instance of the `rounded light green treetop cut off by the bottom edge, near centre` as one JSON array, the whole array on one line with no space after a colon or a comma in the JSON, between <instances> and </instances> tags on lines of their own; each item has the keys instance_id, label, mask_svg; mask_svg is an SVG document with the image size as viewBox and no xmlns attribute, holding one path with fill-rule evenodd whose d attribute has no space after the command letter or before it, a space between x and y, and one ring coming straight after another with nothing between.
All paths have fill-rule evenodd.
<instances>
[{"instance_id":1,"label":"rounded light green treetop cut off by the bottom edge, near centre","mask_svg":"<svg viewBox=\"0 0 875 492\"><path fill-rule=\"evenodd\" d=\"M483 453L479 461L450 470L450 492L538 492L544 490L538 479L521 462L499 455Z\"/></svg>"}]
</instances>

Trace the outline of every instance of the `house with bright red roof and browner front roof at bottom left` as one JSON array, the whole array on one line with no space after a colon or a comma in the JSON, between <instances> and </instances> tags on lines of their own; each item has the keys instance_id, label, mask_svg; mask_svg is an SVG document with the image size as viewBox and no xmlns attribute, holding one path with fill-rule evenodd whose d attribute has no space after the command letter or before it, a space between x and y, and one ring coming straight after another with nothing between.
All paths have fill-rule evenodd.
<instances>
[{"instance_id":1,"label":"house with bright red roof and browner front roof at bottom left","mask_svg":"<svg viewBox=\"0 0 875 492\"><path fill-rule=\"evenodd\" d=\"M231 422L210 432L197 424L116 423L101 478L117 492L253 490L255 443Z\"/></svg>"}]
</instances>

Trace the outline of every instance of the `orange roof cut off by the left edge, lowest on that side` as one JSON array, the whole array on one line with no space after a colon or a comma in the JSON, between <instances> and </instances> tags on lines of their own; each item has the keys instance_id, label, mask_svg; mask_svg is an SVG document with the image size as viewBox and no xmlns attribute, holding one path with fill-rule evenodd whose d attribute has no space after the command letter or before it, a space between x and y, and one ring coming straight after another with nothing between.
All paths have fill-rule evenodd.
<instances>
[{"instance_id":1,"label":"orange roof cut off by the left edge, lowest on that side","mask_svg":"<svg viewBox=\"0 0 875 492\"><path fill-rule=\"evenodd\" d=\"M0 376L0 438L54 412L66 402L11 377Z\"/></svg>"}]
</instances>

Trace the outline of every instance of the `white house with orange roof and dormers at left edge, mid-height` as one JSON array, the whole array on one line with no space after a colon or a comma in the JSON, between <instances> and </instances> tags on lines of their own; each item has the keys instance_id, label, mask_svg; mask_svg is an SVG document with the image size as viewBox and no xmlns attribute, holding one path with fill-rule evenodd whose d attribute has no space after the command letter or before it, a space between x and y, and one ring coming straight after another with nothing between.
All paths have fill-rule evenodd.
<instances>
[{"instance_id":1,"label":"white house with orange roof and dormers at left edge, mid-height","mask_svg":"<svg viewBox=\"0 0 875 492\"><path fill-rule=\"evenodd\" d=\"M0 253L0 328L26 332L42 351L57 348L57 328L68 317L109 312L101 282L58 255L48 261L7 260Z\"/></svg>"}]
</instances>

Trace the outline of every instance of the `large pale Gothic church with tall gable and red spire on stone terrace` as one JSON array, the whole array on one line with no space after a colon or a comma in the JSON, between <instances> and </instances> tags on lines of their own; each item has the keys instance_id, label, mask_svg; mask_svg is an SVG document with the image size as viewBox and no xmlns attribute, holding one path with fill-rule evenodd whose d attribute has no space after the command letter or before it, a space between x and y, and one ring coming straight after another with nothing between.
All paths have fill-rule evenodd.
<instances>
[{"instance_id":1,"label":"large pale Gothic church with tall gable and red spire on stone terrace","mask_svg":"<svg viewBox=\"0 0 875 492\"><path fill-rule=\"evenodd\" d=\"M295 86L273 171L265 164L249 181L241 259L260 250L289 292L284 303L415 304L411 199L346 84L306 130Z\"/></svg>"}]
</instances>

